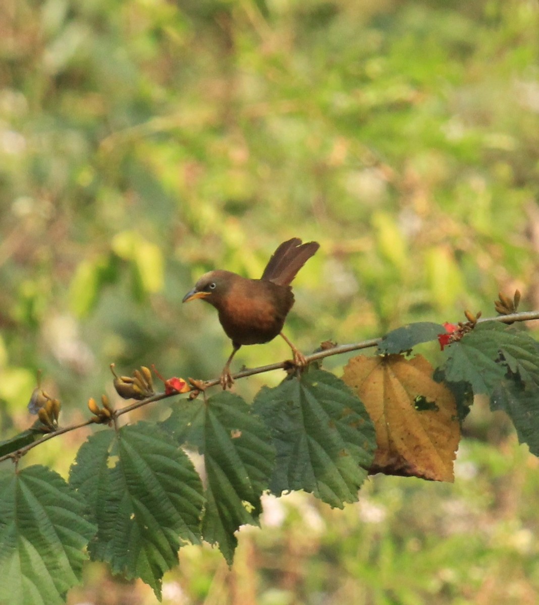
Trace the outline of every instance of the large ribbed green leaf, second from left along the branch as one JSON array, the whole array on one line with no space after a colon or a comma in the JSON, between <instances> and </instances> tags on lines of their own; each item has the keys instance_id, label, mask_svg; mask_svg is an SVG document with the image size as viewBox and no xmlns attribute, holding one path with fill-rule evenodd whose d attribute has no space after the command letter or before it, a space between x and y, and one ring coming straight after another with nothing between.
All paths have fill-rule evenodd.
<instances>
[{"instance_id":1,"label":"large ribbed green leaf, second from left along the branch","mask_svg":"<svg viewBox=\"0 0 539 605\"><path fill-rule=\"evenodd\" d=\"M82 445L70 481L98 524L91 557L108 561L114 574L142 578L159 598L179 538L200 536L202 485L184 451L147 422L101 431Z\"/></svg>"}]
</instances>

